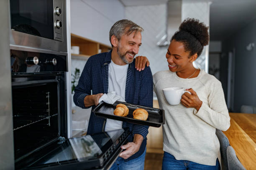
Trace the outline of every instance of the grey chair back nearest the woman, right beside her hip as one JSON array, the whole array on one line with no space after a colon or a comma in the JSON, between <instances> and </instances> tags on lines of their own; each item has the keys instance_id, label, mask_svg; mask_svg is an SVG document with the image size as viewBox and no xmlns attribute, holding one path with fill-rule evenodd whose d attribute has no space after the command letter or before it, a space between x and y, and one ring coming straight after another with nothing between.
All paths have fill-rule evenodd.
<instances>
[{"instance_id":1,"label":"grey chair back nearest the woman, right beside her hip","mask_svg":"<svg viewBox=\"0 0 256 170\"><path fill-rule=\"evenodd\" d=\"M227 148L229 146L229 140L219 129L216 129L216 136L220 142L221 168L222 170L228 170Z\"/></svg>"}]
</instances>

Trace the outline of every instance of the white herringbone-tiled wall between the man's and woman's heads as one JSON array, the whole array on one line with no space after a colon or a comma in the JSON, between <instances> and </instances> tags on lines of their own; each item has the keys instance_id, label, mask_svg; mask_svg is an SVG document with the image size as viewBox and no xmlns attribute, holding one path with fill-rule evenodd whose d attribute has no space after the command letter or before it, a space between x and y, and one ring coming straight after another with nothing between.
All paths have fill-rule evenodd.
<instances>
[{"instance_id":1,"label":"white herringbone-tiled wall between the man's and woman's heads","mask_svg":"<svg viewBox=\"0 0 256 170\"><path fill-rule=\"evenodd\" d=\"M159 35L166 32L166 8L166 4L125 7L125 18L144 29L138 55L148 58L152 74L169 69L165 58L167 47L156 45L161 38Z\"/></svg>"}]
</instances>

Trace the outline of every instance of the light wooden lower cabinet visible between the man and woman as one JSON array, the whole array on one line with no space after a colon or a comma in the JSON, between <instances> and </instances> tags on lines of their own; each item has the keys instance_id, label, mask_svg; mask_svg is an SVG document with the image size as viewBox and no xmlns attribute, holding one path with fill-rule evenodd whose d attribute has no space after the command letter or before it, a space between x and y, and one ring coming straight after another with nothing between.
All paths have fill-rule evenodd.
<instances>
[{"instance_id":1,"label":"light wooden lower cabinet visible between the man and woman","mask_svg":"<svg viewBox=\"0 0 256 170\"><path fill-rule=\"evenodd\" d=\"M157 100L153 101L153 107L159 108ZM159 128L149 127L147 138L147 153L164 153L162 126Z\"/></svg>"}]
</instances>

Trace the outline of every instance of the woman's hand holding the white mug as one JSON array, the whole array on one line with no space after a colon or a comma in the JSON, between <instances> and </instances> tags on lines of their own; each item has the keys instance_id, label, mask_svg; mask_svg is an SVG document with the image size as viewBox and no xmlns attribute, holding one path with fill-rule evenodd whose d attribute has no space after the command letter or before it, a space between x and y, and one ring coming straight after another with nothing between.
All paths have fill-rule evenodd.
<instances>
[{"instance_id":1,"label":"woman's hand holding the white mug","mask_svg":"<svg viewBox=\"0 0 256 170\"><path fill-rule=\"evenodd\" d=\"M202 101L199 99L197 93L192 88L186 89L186 91L191 92L191 95L188 92L185 92L182 95L180 102L185 107L195 107L195 109L198 111L202 106Z\"/></svg>"}]
</instances>

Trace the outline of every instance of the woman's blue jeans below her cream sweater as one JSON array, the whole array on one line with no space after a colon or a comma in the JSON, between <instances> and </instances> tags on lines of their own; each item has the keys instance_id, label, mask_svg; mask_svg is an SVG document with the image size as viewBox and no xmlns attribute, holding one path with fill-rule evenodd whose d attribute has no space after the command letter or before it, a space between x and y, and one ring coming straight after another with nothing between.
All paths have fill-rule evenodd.
<instances>
[{"instance_id":1,"label":"woman's blue jeans below her cream sweater","mask_svg":"<svg viewBox=\"0 0 256 170\"><path fill-rule=\"evenodd\" d=\"M202 165L188 160L176 160L173 155L164 152L162 170L220 170L217 158L216 165Z\"/></svg>"}]
</instances>

